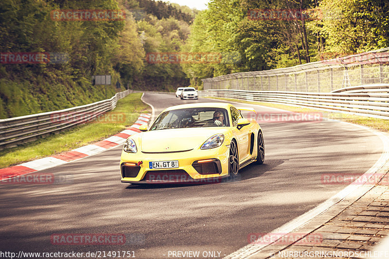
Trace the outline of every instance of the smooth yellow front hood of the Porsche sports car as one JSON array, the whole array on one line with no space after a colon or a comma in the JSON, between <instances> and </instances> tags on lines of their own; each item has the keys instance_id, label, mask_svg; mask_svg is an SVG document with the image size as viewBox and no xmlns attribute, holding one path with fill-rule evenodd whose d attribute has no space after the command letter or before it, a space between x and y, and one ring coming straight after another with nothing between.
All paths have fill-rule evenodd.
<instances>
[{"instance_id":1,"label":"smooth yellow front hood of the Porsche sports car","mask_svg":"<svg viewBox=\"0 0 389 259\"><path fill-rule=\"evenodd\" d=\"M199 148L208 138L227 128L185 128L143 132L141 151L147 153L179 152Z\"/></svg>"}]
</instances>

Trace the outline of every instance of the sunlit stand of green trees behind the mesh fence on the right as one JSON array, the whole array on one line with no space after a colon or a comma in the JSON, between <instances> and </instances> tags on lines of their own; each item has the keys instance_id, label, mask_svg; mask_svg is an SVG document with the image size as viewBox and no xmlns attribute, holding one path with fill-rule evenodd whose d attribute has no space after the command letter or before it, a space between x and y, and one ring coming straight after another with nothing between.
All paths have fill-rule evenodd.
<instances>
[{"instance_id":1,"label":"sunlit stand of green trees behind the mesh fence on the right","mask_svg":"<svg viewBox=\"0 0 389 259\"><path fill-rule=\"evenodd\" d=\"M194 84L226 73L284 68L389 46L387 0L211 0L208 7L196 16L185 48L239 52L241 60L185 65ZM273 16L263 16L270 11ZM296 16L274 16L282 12Z\"/></svg>"}]
</instances>

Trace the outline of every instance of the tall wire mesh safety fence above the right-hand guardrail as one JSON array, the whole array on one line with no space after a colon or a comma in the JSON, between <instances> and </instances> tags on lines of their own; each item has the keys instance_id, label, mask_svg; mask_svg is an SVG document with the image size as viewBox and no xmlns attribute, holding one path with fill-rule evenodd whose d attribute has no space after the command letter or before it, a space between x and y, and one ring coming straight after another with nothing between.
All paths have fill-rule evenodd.
<instances>
[{"instance_id":1,"label":"tall wire mesh safety fence above the right-hand guardrail","mask_svg":"<svg viewBox=\"0 0 389 259\"><path fill-rule=\"evenodd\" d=\"M204 90L331 92L389 83L389 48L290 68L240 72L202 79Z\"/></svg>"}]
</instances>

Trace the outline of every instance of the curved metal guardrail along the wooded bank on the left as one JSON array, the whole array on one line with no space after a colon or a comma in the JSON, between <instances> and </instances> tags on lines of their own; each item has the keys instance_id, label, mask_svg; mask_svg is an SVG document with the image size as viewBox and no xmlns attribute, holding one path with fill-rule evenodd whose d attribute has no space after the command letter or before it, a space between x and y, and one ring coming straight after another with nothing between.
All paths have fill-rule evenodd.
<instances>
[{"instance_id":1,"label":"curved metal guardrail along the wooded bank on the left","mask_svg":"<svg viewBox=\"0 0 389 259\"><path fill-rule=\"evenodd\" d=\"M110 99L68 109L44 112L0 120L0 149L16 146L38 137L93 120L106 111L113 110L118 100L130 93L125 90Z\"/></svg>"}]
</instances>

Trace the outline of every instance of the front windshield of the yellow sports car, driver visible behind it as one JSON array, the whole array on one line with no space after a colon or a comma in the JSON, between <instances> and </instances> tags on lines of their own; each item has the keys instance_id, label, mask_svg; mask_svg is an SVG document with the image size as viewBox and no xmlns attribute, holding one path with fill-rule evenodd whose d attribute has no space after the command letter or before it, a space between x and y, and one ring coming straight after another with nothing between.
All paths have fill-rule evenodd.
<instances>
[{"instance_id":1,"label":"front windshield of the yellow sports car, driver visible behind it","mask_svg":"<svg viewBox=\"0 0 389 259\"><path fill-rule=\"evenodd\" d=\"M165 111L159 115L150 130L217 127L213 122L219 118L223 120L221 127L230 126L228 112L223 108L203 107Z\"/></svg>"}]
</instances>

